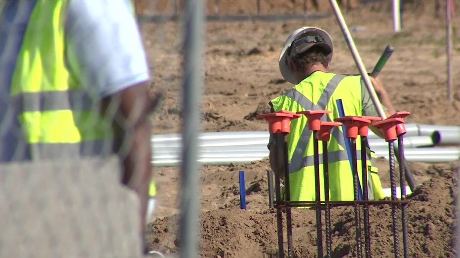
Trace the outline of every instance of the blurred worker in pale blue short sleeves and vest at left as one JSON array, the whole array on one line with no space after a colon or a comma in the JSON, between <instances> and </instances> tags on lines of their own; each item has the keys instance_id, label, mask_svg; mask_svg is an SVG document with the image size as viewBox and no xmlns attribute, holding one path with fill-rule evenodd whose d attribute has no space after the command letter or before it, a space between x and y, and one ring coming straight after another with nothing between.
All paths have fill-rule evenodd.
<instances>
[{"instance_id":1,"label":"blurred worker in pale blue short sleeves and vest at left","mask_svg":"<svg viewBox=\"0 0 460 258\"><path fill-rule=\"evenodd\" d=\"M151 185L149 68L129 0L0 2L0 162L117 153L121 182Z\"/></svg>"}]
</instances>

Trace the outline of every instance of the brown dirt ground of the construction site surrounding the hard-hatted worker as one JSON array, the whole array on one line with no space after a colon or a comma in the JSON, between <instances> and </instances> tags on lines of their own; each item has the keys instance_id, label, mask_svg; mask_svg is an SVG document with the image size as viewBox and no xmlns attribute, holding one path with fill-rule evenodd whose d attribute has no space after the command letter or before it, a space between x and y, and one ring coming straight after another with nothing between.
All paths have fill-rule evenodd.
<instances>
[{"instance_id":1,"label":"brown dirt ground of the construction site surrounding the hard-hatted worker","mask_svg":"<svg viewBox=\"0 0 460 258\"><path fill-rule=\"evenodd\" d=\"M154 2L154 3L153 3ZM143 1L143 13L174 12L172 1ZM207 1L207 12L215 8ZM220 1L221 13L254 13L252 1ZM255 1L254 1L255 2ZM326 1L309 12L329 12ZM344 1L345 2L345 1ZM387 44L395 48L383 68L381 79L397 110L410 111L407 123L460 125L460 16L454 18L452 79L453 103L446 100L445 20L436 0L406 0L402 31L393 32L390 1L352 6L344 16L363 63L370 71ZM442 1L444 2L444 1ZM455 1L456 9L460 3ZM142 5L144 4L144 5ZM180 4L179 4L180 5ZM254 5L254 6L252 6ZM302 12L303 1L261 1L262 13ZM179 8L180 11L180 8ZM268 112L268 101L292 85L279 73L277 59L287 35L302 26L330 32L335 42L331 70L358 73L335 17L304 21L208 22L202 69L203 131L267 130L254 114ZM152 89L165 91L164 101L153 117L154 133L181 130L182 70L181 23L142 24L151 66ZM379 160L384 187L389 187L388 163ZM455 257L454 204L458 162L409 162L421 186L407 205L409 257ZM200 167L200 256L206 258L277 257L276 216L268 207L268 159L251 164ZM239 208L238 171L245 171L247 209ZM148 226L149 248L174 254L178 251L180 171L155 167L158 207ZM333 257L354 257L353 212L332 211ZM296 257L315 257L315 215L312 210L293 210L293 241ZM402 234L402 233L401 233ZM371 209L372 254L392 257L391 209ZM286 238L285 238L286 239ZM402 245L401 245L402 246Z\"/></svg>"}]
</instances>

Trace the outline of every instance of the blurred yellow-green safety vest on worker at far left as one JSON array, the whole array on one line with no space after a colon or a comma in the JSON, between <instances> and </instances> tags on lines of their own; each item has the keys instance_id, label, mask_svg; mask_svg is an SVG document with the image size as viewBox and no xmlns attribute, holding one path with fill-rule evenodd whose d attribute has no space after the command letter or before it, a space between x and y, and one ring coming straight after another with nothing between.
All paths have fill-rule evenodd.
<instances>
[{"instance_id":1,"label":"blurred yellow-green safety vest on worker at far left","mask_svg":"<svg viewBox=\"0 0 460 258\"><path fill-rule=\"evenodd\" d=\"M68 2L26 1L21 10L27 26L12 54L10 96L32 160L112 152L112 119L101 116L98 93L82 88L67 67ZM155 194L153 182L150 194Z\"/></svg>"}]
</instances>

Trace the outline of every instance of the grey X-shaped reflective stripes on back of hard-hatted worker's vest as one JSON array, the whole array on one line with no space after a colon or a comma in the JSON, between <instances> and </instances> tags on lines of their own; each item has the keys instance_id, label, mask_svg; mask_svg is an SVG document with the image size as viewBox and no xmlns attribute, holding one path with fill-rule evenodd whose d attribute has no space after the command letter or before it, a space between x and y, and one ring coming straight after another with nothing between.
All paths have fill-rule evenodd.
<instances>
[{"instance_id":1,"label":"grey X-shaped reflective stripes on back of hard-hatted worker's vest","mask_svg":"<svg viewBox=\"0 0 460 258\"><path fill-rule=\"evenodd\" d=\"M326 108L327 103L329 103L330 98L334 94L334 91L336 90L337 86L339 86L340 82L345 77L346 76L342 74L334 75L334 77L332 77L332 79L327 83L316 105L294 88L287 91L284 95L295 100L305 110L324 110ZM321 120L331 121L328 116L323 116ZM343 137L339 137L340 134L341 132L338 128L334 128L332 130L332 135L336 138L337 142L345 149L345 141L343 140ZM298 171L305 166L303 165L304 153L311 135L312 131L308 130L308 127L306 126L300 135L299 141L297 142L297 146L292 155L291 162L289 162L290 173Z\"/></svg>"}]
</instances>

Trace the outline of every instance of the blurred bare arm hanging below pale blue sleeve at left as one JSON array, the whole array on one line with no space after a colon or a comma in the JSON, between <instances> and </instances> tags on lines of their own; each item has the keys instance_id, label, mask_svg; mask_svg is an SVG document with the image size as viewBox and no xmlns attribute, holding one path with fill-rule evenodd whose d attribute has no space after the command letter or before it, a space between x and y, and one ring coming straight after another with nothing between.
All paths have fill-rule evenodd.
<instances>
[{"instance_id":1,"label":"blurred bare arm hanging below pale blue sleeve at left","mask_svg":"<svg viewBox=\"0 0 460 258\"><path fill-rule=\"evenodd\" d=\"M159 95L150 97L147 84L138 84L103 99L106 111L116 108L113 128L114 152L123 160L121 181L134 190L140 200L140 231L146 226L149 184L151 180L152 126L149 114L156 106Z\"/></svg>"}]
</instances>

